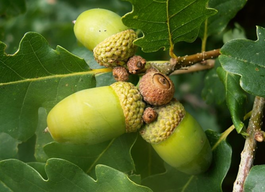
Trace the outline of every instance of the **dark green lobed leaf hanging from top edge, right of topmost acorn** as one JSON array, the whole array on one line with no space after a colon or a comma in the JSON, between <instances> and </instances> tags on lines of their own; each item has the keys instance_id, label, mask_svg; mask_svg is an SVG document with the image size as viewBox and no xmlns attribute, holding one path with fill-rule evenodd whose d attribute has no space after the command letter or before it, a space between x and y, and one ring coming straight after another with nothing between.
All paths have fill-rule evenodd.
<instances>
[{"instance_id":1,"label":"dark green lobed leaf hanging from top edge, right of topmost acorn","mask_svg":"<svg viewBox=\"0 0 265 192\"><path fill-rule=\"evenodd\" d=\"M126 1L133 11L123 16L122 22L142 31L143 37L134 43L144 52L167 50L180 41L193 42L201 23L217 12L205 7L208 0Z\"/></svg>"}]
</instances>

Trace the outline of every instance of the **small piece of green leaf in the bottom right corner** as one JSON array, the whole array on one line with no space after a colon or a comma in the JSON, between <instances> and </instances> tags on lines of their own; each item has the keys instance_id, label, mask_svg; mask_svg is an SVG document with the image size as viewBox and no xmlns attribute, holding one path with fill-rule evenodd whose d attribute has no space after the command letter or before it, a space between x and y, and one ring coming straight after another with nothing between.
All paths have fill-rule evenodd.
<instances>
[{"instance_id":1,"label":"small piece of green leaf in the bottom right corner","mask_svg":"<svg viewBox=\"0 0 265 192\"><path fill-rule=\"evenodd\" d=\"M245 182L244 191L264 191L265 189L265 165L255 165L251 167Z\"/></svg>"}]
</instances>

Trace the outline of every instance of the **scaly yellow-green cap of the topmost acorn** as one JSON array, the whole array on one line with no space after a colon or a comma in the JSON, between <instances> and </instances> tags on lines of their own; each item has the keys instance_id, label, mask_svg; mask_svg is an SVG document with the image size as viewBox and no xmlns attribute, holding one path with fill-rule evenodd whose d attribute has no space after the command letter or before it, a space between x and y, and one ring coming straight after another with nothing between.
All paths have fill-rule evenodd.
<instances>
[{"instance_id":1,"label":"scaly yellow-green cap of the topmost acorn","mask_svg":"<svg viewBox=\"0 0 265 192\"><path fill-rule=\"evenodd\" d=\"M125 30L106 38L93 49L95 61L105 67L124 66L136 52L137 47L132 43L136 39L133 30Z\"/></svg>"}]
</instances>

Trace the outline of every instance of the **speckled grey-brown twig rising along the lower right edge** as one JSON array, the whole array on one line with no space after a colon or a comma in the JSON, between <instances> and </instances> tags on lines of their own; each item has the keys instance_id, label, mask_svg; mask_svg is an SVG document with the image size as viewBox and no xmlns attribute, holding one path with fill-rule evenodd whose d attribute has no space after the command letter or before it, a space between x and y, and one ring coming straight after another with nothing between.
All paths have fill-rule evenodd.
<instances>
[{"instance_id":1,"label":"speckled grey-brown twig rising along the lower right edge","mask_svg":"<svg viewBox=\"0 0 265 192\"><path fill-rule=\"evenodd\" d=\"M265 105L265 98L255 97L252 114L247 127L247 134L244 144L244 149L241 152L241 161L237 177L233 184L233 192L242 192L243 185L250 168L253 166L255 151L256 151L256 140L254 138L255 132L260 131L263 109Z\"/></svg>"}]
</instances>

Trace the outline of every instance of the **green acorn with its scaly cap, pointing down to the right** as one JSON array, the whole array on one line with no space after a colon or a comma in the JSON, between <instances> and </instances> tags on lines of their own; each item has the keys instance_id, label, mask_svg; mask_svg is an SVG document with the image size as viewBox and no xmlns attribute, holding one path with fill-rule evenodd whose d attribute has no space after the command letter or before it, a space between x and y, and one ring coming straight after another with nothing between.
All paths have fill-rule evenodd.
<instances>
[{"instance_id":1,"label":"green acorn with its scaly cap, pointing down to the right","mask_svg":"<svg viewBox=\"0 0 265 192\"><path fill-rule=\"evenodd\" d=\"M154 106L157 119L144 124L139 133L169 165L186 174L205 172L212 160L209 141L198 122L172 99Z\"/></svg>"}]
</instances>

